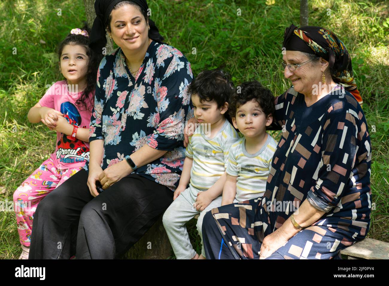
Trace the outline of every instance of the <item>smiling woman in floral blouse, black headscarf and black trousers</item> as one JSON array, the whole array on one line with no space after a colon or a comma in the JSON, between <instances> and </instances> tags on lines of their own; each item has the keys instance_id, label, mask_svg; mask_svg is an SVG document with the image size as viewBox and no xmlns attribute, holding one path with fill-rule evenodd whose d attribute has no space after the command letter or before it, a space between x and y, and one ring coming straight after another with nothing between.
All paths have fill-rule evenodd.
<instances>
[{"instance_id":1,"label":"smiling woman in floral blouse, black headscarf and black trousers","mask_svg":"<svg viewBox=\"0 0 389 286\"><path fill-rule=\"evenodd\" d=\"M179 182L183 126L193 116L190 63L162 42L145 1L98 0L95 10L93 49L103 51L105 28L119 48L98 70L90 160L37 208L31 259L123 255Z\"/></svg>"}]
</instances>

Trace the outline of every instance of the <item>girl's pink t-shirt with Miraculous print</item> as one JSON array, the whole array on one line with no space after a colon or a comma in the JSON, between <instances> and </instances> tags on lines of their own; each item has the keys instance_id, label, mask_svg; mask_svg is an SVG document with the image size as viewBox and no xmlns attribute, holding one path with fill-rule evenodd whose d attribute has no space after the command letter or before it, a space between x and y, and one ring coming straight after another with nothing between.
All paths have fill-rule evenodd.
<instances>
[{"instance_id":1,"label":"girl's pink t-shirt with Miraculous print","mask_svg":"<svg viewBox=\"0 0 389 286\"><path fill-rule=\"evenodd\" d=\"M69 93L68 89L72 93ZM87 110L83 107L82 111L75 104L81 94L82 91L77 92L75 86L68 85L66 80L57 81L47 89L39 104L65 114L64 117L70 124L89 129L92 114L90 104L88 103ZM89 93L89 97L94 98L95 91ZM55 167L60 170L83 167L89 160L89 143L79 139L70 140L67 135L57 132L56 149L51 158Z\"/></svg>"}]
</instances>

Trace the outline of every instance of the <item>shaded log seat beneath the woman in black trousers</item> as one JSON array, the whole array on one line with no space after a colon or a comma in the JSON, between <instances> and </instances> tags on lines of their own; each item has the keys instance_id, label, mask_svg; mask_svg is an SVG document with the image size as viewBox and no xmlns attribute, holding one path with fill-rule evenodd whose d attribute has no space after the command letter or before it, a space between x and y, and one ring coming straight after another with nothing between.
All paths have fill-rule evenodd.
<instances>
[{"instance_id":1,"label":"shaded log seat beneath the woman in black trousers","mask_svg":"<svg viewBox=\"0 0 389 286\"><path fill-rule=\"evenodd\" d=\"M162 215L145 235L124 255L124 259L166 259L172 246L162 223Z\"/></svg>"}]
</instances>

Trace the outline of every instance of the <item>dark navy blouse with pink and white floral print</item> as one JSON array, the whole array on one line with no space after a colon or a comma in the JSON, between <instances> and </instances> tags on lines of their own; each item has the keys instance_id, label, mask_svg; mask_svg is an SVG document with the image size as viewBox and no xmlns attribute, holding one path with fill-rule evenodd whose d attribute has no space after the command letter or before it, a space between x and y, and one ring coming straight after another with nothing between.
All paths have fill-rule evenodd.
<instances>
[{"instance_id":1,"label":"dark navy blouse with pink and white floral print","mask_svg":"<svg viewBox=\"0 0 389 286\"><path fill-rule=\"evenodd\" d=\"M135 173L177 188L185 159L184 124L193 117L187 94L192 79L186 57L155 41L147 48L136 78L121 48L103 58L89 129L89 142L104 140L103 170L147 144L168 152ZM88 165L89 161L84 167L87 171Z\"/></svg>"}]
</instances>

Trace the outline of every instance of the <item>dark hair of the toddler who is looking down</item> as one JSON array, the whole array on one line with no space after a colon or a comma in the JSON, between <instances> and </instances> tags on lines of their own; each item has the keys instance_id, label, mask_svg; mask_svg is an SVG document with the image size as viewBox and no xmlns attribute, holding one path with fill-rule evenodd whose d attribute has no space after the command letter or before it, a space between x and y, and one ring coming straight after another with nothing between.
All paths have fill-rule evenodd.
<instances>
[{"instance_id":1,"label":"dark hair of the toddler who is looking down","mask_svg":"<svg viewBox=\"0 0 389 286\"><path fill-rule=\"evenodd\" d=\"M204 70L189 84L188 93L196 94L200 101L212 101L220 108L230 101L234 91L231 75L219 68Z\"/></svg>"}]
</instances>

